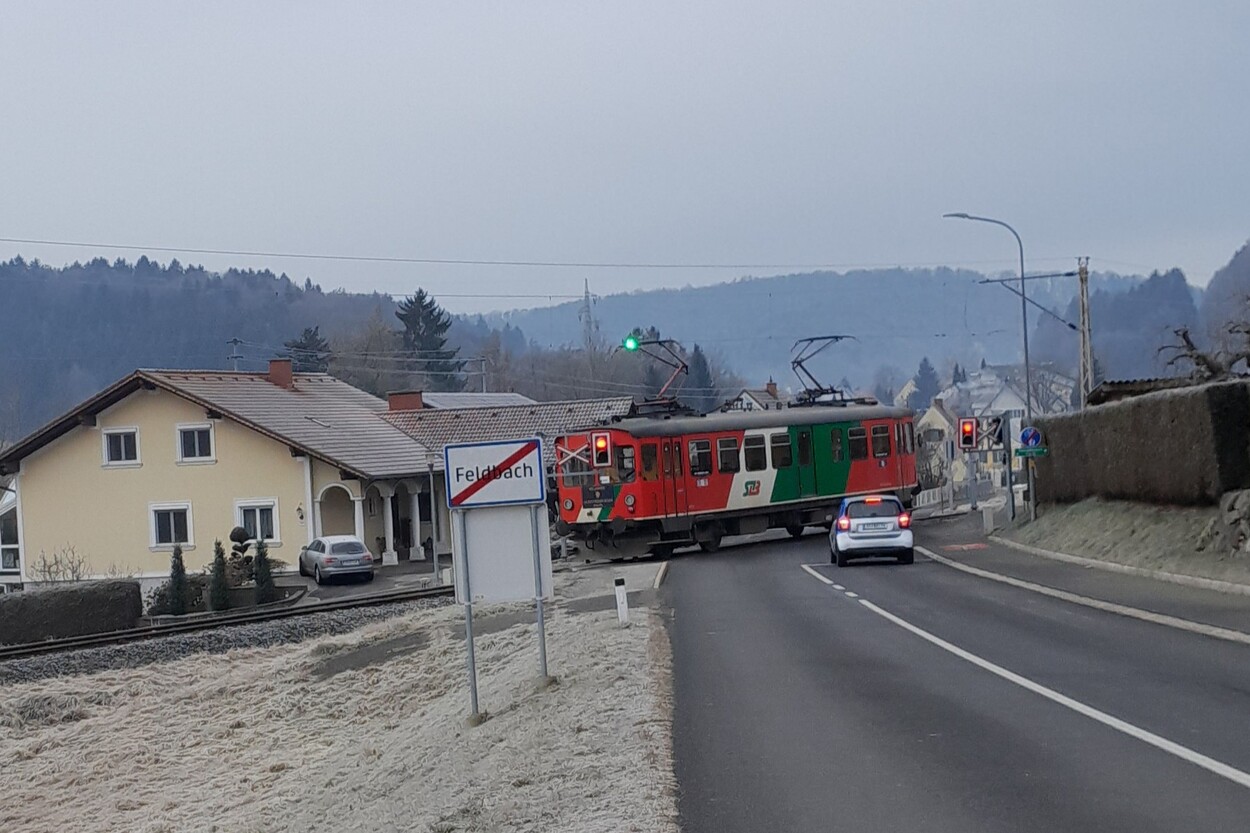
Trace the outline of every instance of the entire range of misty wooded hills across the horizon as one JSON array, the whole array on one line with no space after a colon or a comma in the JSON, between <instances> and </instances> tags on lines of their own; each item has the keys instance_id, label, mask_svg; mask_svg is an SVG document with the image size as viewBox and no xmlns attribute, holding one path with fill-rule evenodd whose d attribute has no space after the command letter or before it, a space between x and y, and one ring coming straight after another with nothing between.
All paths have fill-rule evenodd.
<instances>
[{"instance_id":1,"label":"entire range of misty wooded hills across the horizon","mask_svg":"<svg viewBox=\"0 0 1250 833\"><path fill-rule=\"evenodd\" d=\"M784 388L796 386L794 341L812 335L855 336L825 350L810 368L829 383L845 379L859 388L870 386L882 369L905 380L922 356L939 374L955 361L1019 361L1019 296L984 279L969 270L879 269L608 294L592 301L594 340L611 349L630 330L654 326L688 350L700 345L725 378L736 374L752 385L774 378ZM1030 298L1070 321L1078 316L1075 293L1075 278L1029 283ZM1181 371L1168 368L1158 351L1172 330L1220 333L1230 319L1246 320L1248 298L1250 248L1215 275L1205 294L1179 270L1150 278L1094 273L1095 358L1106 378ZM585 345L580 308L572 301L458 316L448 346L460 356L486 356L492 384L516 384L524 366L545 380L531 385L531 395L599 395L608 380L569 370L591 366L578 358ZM259 369L305 328L319 326L336 344L392 334L399 326L394 311L389 295L326 293L311 280L268 270L212 273L148 258L54 268L15 258L0 263L0 442L38 428L135 368L228 369L234 349L241 369ZM1075 373L1075 333L1036 310L1030 321L1034 360ZM241 344L230 346L230 339ZM636 386L611 384L618 391Z\"/></svg>"}]
</instances>

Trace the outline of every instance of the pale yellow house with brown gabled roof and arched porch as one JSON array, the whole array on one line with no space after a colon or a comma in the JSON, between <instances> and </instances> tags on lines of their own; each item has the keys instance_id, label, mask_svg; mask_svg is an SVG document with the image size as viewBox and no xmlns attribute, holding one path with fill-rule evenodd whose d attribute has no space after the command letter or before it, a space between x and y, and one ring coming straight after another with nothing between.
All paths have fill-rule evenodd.
<instances>
[{"instance_id":1,"label":"pale yellow house with brown gabled roof and arched porch","mask_svg":"<svg viewBox=\"0 0 1250 833\"><path fill-rule=\"evenodd\" d=\"M382 418L420 406L288 359L138 370L0 452L15 495L0 582L48 580L54 563L158 578L175 544L199 569L235 527L289 565L330 534L360 537L382 563L450 552L441 459Z\"/></svg>"}]
</instances>

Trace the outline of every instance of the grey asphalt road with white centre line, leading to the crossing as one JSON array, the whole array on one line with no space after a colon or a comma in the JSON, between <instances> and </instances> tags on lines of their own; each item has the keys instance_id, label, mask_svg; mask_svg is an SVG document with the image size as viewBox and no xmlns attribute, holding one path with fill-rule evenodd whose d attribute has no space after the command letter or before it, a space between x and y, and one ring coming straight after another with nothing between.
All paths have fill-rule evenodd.
<instances>
[{"instance_id":1,"label":"grey asphalt road with white centre line, leading to the crossing","mask_svg":"<svg viewBox=\"0 0 1250 833\"><path fill-rule=\"evenodd\" d=\"M980 540L965 529L935 523L918 544L958 554L939 547ZM975 553L1054 587L1088 573ZM1250 645L920 553L838 569L815 533L676 558L662 593L686 833L1250 829ZM1171 615L1211 604L1132 593Z\"/></svg>"}]
</instances>

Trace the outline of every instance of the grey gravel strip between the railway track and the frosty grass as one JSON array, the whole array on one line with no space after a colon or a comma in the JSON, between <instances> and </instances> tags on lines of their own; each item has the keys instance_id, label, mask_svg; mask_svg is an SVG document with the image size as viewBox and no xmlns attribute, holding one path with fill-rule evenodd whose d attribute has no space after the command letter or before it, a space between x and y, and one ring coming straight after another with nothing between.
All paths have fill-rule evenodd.
<instances>
[{"instance_id":1,"label":"grey gravel strip between the railway track and the frosty grass","mask_svg":"<svg viewBox=\"0 0 1250 833\"><path fill-rule=\"evenodd\" d=\"M120 645L84 648L41 657L0 662L0 685L29 683L49 677L91 674L168 663L189 654L220 654L235 648L266 648L304 642L314 637L348 633L372 622L451 604L446 598L396 602L374 607L309 613L290 619L225 625L212 630L156 637Z\"/></svg>"}]
</instances>

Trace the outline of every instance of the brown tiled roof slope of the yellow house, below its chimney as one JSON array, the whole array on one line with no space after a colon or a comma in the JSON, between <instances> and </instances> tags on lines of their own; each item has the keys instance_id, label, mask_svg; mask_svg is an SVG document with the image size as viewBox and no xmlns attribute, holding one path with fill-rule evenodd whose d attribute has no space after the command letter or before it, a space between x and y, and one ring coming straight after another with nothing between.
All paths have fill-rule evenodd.
<instances>
[{"instance_id":1,"label":"brown tiled roof slope of the yellow house, below its chimney","mask_svg":"<svg viewBox=\"0 0 1250 833\"><path fill-rule=\"evenodd\" d=\"M264 373L140 370L156 384L368 478L426 470L426 449L380 419L386 403L324 373L291 388Z\"/></svg>"}]
</instances>

